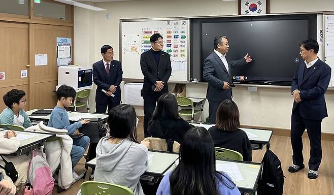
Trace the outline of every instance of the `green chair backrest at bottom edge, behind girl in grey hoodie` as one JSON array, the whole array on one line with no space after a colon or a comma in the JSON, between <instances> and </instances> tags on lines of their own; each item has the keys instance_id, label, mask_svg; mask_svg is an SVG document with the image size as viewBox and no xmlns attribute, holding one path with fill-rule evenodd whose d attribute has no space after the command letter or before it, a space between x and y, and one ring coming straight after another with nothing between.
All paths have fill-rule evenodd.
<instances>
[{"instance_id":1,"label":"green chair backrest at bottom edge, behind girl in grey hoodie","mask_svg":"<svg viewBox=\"0 0 334 195\"><path fill-rule=\"evenodd\" d=\"M82 195L133 195L133 191L128 187L97 181L85 181L81 184L80 189Z\"/></svg>"}]
</instances>

